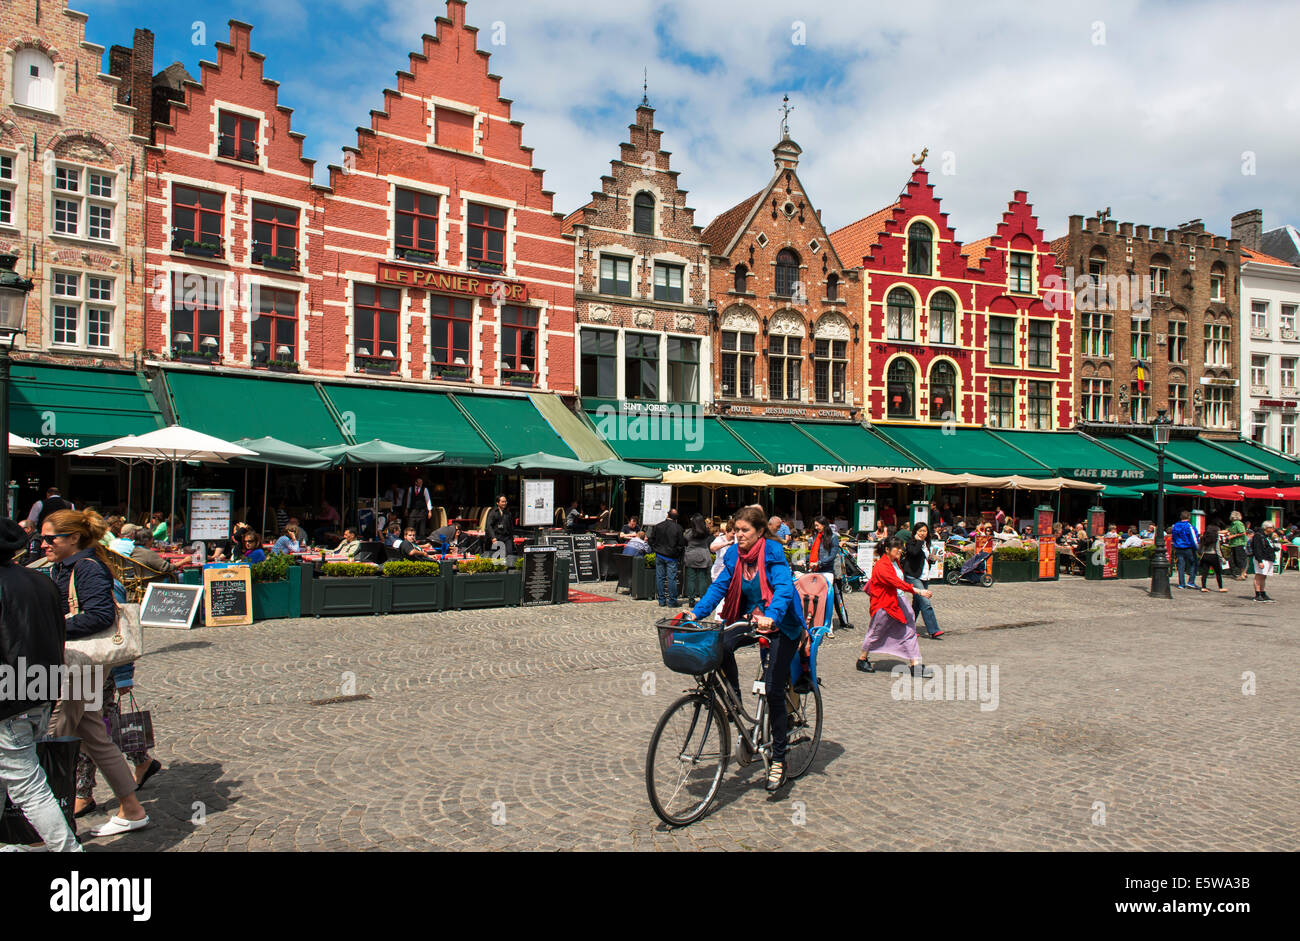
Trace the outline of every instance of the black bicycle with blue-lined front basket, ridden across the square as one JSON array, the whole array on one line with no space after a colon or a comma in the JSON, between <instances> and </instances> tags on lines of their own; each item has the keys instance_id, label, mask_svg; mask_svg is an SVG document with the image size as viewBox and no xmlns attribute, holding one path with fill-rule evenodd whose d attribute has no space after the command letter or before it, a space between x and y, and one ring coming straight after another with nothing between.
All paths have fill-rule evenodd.
<instances>
[{"instance_id":1,"label":"black bicycle with blue-lined front basket, ridden across the square","mask_svg":"<svg viewBox=\"0 0 1300 941\"><path fill-rule=\"evenodd\" d=\"M737 732L737 762L745 766L762 759L764 772L771 767L771 714L763 681L766 646L753 686L758 697L753 715L719 672L723 633L749 624L655 621L664 664L696 677L694 689L686 690L659 717L646 753L650 806L660 820L672 827L685 827L708 812L731 759L732 725ZM766 639L750 629L742 636L742 646L764 643ZM819 684L805 685L807 691L803 693L796 691L790 684L785 688L789 712L785 773L789 780L807 772L822 742L822 689ZM766 780L766 773L763 777Z\"/></svg>"}]
</instances>

